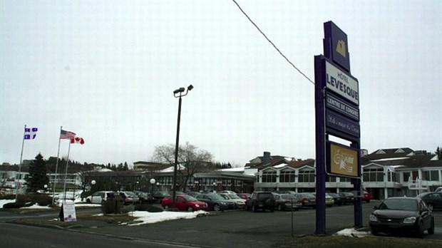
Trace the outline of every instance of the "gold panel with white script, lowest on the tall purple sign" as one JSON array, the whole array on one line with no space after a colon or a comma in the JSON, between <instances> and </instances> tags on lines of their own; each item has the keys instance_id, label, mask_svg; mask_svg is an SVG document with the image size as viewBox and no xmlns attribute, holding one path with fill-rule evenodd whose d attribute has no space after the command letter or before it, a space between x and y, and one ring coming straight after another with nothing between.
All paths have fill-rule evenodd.
<instances>
[{"instance_id":1,"label":"gold panel with white script, lowest on the tall purple sign","mask_svg":"<svg viewBox=\"0 0 442 248\"><path fill-rule=\"evenodd\" d=\"M358 151L338 143L327 142L327 167L334 175L359 177Z\"/></svg>"}]
</instances>

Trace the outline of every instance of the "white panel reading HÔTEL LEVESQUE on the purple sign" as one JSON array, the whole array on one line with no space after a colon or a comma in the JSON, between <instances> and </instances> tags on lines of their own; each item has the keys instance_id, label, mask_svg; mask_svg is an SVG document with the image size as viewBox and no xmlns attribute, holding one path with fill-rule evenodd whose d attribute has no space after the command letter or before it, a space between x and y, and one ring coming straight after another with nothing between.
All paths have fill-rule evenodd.
<instances>
[{"instance_id":1,"label":"white panel reading H\u00d4TEL LEVESQUE on the purple sign","mask_svg":"<svg viewBox=\"0 0 442 248\"><path fill-rule=\"evenodd\" d=\"M327 76L327 88L350 100L352 103L359 105L358 81L354 80L328 61L325 62L325 71Z\"/></svg>"}]
</instances>

